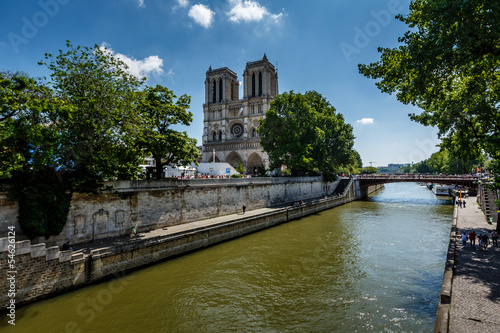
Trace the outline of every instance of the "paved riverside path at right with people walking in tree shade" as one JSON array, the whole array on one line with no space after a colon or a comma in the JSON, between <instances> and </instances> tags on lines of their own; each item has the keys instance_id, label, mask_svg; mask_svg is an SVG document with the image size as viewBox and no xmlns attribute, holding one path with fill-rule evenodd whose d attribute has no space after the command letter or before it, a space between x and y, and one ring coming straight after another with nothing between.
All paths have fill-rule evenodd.
<instances>
[{"instance_id":1,"label":"paved riverside path at right with people walking in tree shade","mask_svg":"<svg viewBox=\"0 0 500 333\"><path fill-rule=\"evenodd\" d=\"M451 289L449 332L500 332L500 247L492 245L490 233L496 225L489 224L476 202L466 200L466 208L457 207L457 251ZM460 235L474 230L487 233L490 244L486 251L470 242L463 247Z\"/></svg>"}]
</instances>

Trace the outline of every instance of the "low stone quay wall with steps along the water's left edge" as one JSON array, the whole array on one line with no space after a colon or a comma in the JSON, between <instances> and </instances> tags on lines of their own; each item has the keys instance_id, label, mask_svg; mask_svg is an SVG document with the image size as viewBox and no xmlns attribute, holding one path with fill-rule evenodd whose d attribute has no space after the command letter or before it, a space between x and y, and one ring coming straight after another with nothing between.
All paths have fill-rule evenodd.
<instances>
[{"instance_id":1,"label":"low stone quay wall with steps along the water's left edge","mask_svg":"<svg viewBox=\"0 0 500 333\"><path fill-rule=\"evenodd\" d=\"M177 234L146 239L131 237L126 244L93 249L87 255L60 251L57 246L32 245L29 240L12 244L11 238L0 238L0 272L4 275L15 270L15 298L9 296L12 284L0 284L0 312L13 299L16 306L30 303L359 199L357 183L351 181L342 196L314 200L301 207L279 208ZM371 186L368 193L381 187ZM12 249L14 267L9 264Z\"/></svg>"}]
</instances>

